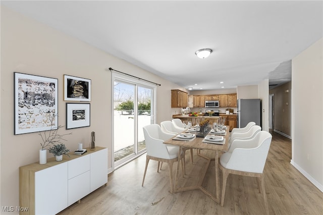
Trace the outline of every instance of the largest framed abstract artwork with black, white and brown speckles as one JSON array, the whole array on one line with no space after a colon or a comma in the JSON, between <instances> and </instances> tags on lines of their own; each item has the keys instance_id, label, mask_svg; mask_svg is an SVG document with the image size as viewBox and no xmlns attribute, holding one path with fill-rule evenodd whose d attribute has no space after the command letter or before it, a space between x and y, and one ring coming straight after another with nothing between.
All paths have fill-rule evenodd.
<instances>
[{"instance_id":1,"label":"largest framed abstract artwork with black, white and brown speckles","mask_svg":"<svg viewBox=\"0 0 323 215\"><path fill-rule=\"evenodd\" d=\"M58 127L58 79L14 72L14 134Z\"/></svg>"}]
</instances>

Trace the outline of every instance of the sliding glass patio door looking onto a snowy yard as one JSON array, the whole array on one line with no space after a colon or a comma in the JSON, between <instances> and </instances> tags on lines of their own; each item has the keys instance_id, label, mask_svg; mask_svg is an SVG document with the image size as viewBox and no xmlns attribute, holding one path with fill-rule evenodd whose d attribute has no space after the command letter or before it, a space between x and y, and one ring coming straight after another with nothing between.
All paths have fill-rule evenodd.
<instances>
[{"instance_id":1,"label":"sliding glass patio door looking onto a snowy yard","mask_svg":"<svg viewBox=\"0 0 323 215\"><path fill-rule=\"evenodd\" d=\"M142 127L154 123L155 86L114 74L114 169L146 151Z\"/></svg>"}]
</instances>

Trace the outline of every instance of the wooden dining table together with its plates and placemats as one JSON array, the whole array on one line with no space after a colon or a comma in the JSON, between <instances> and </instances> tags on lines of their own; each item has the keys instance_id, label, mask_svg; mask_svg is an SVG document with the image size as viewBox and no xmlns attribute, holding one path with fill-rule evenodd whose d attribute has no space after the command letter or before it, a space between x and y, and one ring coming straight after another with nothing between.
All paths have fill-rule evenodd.
<instances>
[{"instance_id":1,"label":"wooden dining table together with its plates and placemats","mask_svg":"<svg viewBox=\"0 0 323 215\"><path fill-rule=\"evenodd\" d=\"M204 194L206 194L208 197L210 197L213 201L217 202L220 204L221 202L221 197L220 197L220 180L219 180L219 153L221 151L228 151L229 148L229 136L230 136L230 127L226 126L226 130L224 133L217 134L214 132L213 129L208 130L206 133L201 133L201 132L190 132L189 129L185 130L181 134L175 135L173 138L168 139L164 141L164 144L171 144L175 146L179 146L179 155L178 155L178 162L177 162L177 168L176 168L176 177L175 177L175 187L174 187L174 192L185 192L185 191L191 191L191 190L200 190ZM214 132L214 133L212 133ZM192 134L192 135L185 135L185 134ZM193 136L189 138L190 136ZM212 136L219 138L220 136L223 137L222 141L212 141ZM210 139L211 138L211 139ZM197 149L198 153L197 155L203 159L206 160L205 165L200 169L200 172L196 177L198 179L196 180L197 183L196 185L190 185L190 186L181 186L179 187L179 171L180 171L180 159L181 159L181 153L183 153L182 148L194 148ZM214 151L215 155L214 157L209 157L204 155L202 152L203 150L212 150ZM216 184L216 193L215 195L212 194L210 191L205 189L202 186L202 183L204 181L205 174L207 172L207 169L209 167L209 164L211 160L214 160L214 168L215 168L215 175L214 175L214 180ZM193 164L194 165L194 164Z\"/></svg>"}]
</instances>

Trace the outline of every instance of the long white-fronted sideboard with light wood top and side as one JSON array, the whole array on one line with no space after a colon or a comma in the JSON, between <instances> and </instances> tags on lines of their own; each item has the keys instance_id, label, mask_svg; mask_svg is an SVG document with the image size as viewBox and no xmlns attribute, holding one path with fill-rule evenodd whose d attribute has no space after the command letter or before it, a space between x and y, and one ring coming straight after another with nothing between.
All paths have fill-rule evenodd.
<instances>
[{"instance_id":1,"label":"long white-fronted sideboard with light wood top and side","mask_svg":"<svg viewBox=\"0 0 323 215\"><path fill-rule=\"evenodd\" d=\"M47 163L19 168L20 214L56 214L107 184L107 148L87 148L83 155L64 155Z\"/></svg>"}]
</instances>

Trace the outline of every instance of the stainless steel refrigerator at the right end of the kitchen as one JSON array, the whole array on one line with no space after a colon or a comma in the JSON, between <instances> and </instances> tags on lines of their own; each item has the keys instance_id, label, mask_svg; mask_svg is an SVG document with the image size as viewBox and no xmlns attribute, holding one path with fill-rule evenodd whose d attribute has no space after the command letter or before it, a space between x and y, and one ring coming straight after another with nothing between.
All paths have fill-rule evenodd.
<instances>
[{"instance_id":1,"label":"stainless steel refrigerator at the right end of the kitchen","mask_svg":"<svg viewBox=\"0 0 323 215\"><path fill-rule=\"evenodd\" d=\"M238 128L245 127L249 122L260 125L261 104L260 99L238 99L237 100L237 125Z\"/></svg>"}]
</instances>

